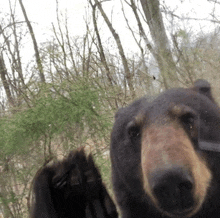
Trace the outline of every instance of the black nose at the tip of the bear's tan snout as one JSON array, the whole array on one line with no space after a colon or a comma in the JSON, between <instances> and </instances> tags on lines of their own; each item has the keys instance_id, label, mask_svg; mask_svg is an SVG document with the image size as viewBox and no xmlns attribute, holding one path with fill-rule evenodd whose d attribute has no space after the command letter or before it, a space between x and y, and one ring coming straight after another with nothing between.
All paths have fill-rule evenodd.
<instances>
[{"instance_id":1,"label":"black nose at the tip of the bear's tan snout","mask_svg":"<svg viewBox=\"0 0 220 218\"><path fill-rule=\"evenodd\" d=\"M181 167L156 170L150 175L150 187L159 206L170 213L183 213L193 206L193 178Z\"/></svg>"}]
</instances>

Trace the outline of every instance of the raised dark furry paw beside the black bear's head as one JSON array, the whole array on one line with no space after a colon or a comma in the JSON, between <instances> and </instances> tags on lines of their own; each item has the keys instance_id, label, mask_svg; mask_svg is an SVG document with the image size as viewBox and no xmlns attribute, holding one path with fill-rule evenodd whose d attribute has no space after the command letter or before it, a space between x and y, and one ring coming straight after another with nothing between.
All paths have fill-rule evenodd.
<instances>
[{"instance_id":1,"label":"raised dark furry paw beside the black bear's head","mask_svg":"<svg viewBox=\"0 0 220 218\"><path fill-rule=\"evenodd\" d=\"M33 192L32 218L118 217L92 156L84 150L40 169Z\"/></svg>"}]
</instances>

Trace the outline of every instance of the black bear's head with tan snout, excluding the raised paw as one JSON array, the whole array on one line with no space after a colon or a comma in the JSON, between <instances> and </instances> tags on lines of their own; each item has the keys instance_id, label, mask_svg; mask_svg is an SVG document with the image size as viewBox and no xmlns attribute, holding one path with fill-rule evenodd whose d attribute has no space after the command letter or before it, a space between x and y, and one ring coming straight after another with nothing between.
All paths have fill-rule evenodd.
<instances>
[{"instance_id":1,"label":"black bear's head with tan snout, excluding the raised paw","mask_svg":"<svg viewBox=\"0 0 220 218\"><path fill-rule=\"evenodd\" d=\"M120 109L110 155L122 218L219 218L219 142L220 109L205 80Z\"/></svg>"}]
</instances>

